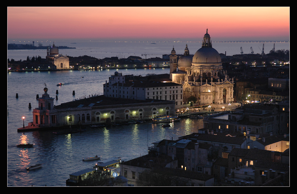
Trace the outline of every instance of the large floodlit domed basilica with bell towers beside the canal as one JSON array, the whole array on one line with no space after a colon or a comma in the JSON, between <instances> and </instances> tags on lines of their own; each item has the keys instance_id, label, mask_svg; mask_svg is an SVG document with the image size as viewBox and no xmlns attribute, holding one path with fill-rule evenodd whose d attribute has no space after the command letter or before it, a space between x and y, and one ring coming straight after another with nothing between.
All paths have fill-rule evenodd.
<instances>
[{"instance_id":1,"label":"large floodlit domed basilica with bell towers beside the canal","mask_svg":"<svg viewBox=\"0 0 297 194\"><path fill-rule=\"evenodd\" d=\"M223 70L221 56L212 48L208 30L204 35L202 47L194 56L189 54L186 45L184 55L179 59L174 48L169 57L170 78L172 82L183 85L184 103L189 103L192 99L196 99L196 103L200 105L234 101L233 79Z\"/></svg>"}]
</instances>

